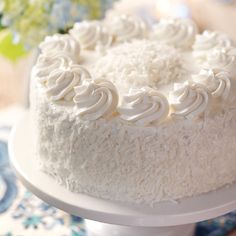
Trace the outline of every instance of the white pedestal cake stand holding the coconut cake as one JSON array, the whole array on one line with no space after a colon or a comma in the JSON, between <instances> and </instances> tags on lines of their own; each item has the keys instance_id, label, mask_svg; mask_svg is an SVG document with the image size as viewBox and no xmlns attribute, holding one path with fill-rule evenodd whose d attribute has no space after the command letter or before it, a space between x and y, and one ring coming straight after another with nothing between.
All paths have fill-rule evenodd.
<instances>
[{"instance_id":1,"label":"white pedestal cake stand holding the coconut cake","mask_svg":"<svg viewBox=\"0 0 236 236\"><path fill-rule=\"evenodd\" d=\"M9 141L11 163L17 176L45 202L89 219L85 221L89 236L190 236L195 222L236 209L236 184L178 203L159 203L153 208L72 193L37 169L29 121L26 113L14 127Z\"/></svg>"}]
</instances>

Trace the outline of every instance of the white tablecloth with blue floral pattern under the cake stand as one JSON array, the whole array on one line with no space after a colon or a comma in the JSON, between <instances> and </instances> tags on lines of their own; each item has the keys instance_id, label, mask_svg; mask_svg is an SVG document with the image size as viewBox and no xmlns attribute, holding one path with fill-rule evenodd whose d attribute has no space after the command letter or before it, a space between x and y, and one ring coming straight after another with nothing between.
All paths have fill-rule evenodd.
<instances>
[{"instance_id":1,"label":"white tablecloth with blue floral pattern under the cake stand","mask_svg":"<svg viewBox=\"0 0 236 236\"><path fill-rule=\"evenodd\" d=\"M86 236L82 218L41 201L15 177L7 151L13 114L11 110L10 118L5 116L7 123L1 122L0 113L0 236ZM199 223L195 236L224 236L235 228L236 212L232 212Z\"/></svg>"}]
</instances>

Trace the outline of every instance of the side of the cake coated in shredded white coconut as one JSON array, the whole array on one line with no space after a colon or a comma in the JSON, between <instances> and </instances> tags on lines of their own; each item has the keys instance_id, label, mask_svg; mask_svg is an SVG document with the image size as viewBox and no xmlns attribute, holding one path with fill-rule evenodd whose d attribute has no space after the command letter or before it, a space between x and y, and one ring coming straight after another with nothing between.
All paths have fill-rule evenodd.
<instances>
[{"instance_id":1,"label":"side of the cake coated in shredded white coconut","mask_svg":"<svg viewBox=\"0 0 236 236\"><path fill-rule=\"evenodd\" d=\"M118 120L84 122L71 107L55 107L37 93L38 160L73 192L152 205L236 180L235 109L194 124L144 128Z\"/></svg>"}]
</instances>

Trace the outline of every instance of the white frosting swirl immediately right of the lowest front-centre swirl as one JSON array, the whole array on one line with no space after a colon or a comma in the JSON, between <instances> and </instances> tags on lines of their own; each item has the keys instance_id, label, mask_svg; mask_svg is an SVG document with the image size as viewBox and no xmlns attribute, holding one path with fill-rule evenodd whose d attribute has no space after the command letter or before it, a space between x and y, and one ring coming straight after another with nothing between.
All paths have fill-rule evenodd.
<instances>
[{"instance_id":1,"label":"white frosting swirl immediately right of the lowest front-centre swirl","mask_svg":"<svg viewBox=\"0 0 236 236\"><path fill-rule=\"evenodd\" d=\"M174 84L174 91L170 93L169 102L174 118L195 119L208 106L207 89L200 84Z\"/></svg>"}]
</instances>

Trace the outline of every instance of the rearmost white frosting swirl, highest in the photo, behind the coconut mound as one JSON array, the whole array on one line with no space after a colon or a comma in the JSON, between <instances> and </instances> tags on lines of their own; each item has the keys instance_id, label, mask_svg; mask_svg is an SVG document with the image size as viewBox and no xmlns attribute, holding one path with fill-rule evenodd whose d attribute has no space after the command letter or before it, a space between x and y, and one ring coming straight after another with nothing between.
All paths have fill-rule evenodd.
<instances>
[{"instance_id":1,"label":"rearmost white frosting swirl, highest in the photo, behind the coconut mound","mask_svg":"<svg viewBox=\"0 0 236 236\"><path fill-rule=\"evenodd\" d=\"M128 15L116 16L108 23L110 33L118 42L143 38L146 34L146 24L139 18Z\"/></svg>"}]
</instances>

